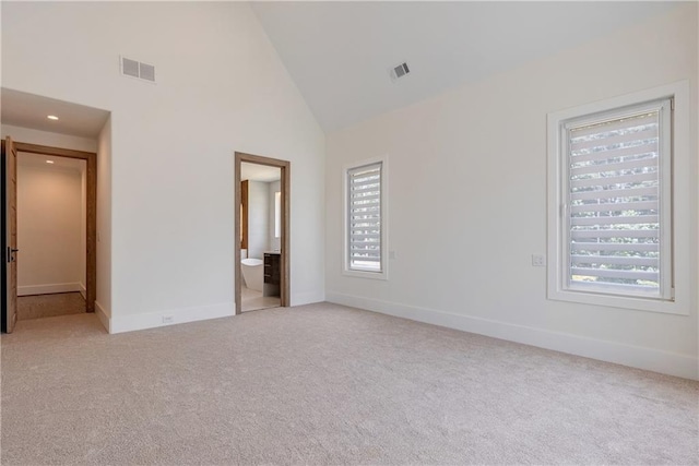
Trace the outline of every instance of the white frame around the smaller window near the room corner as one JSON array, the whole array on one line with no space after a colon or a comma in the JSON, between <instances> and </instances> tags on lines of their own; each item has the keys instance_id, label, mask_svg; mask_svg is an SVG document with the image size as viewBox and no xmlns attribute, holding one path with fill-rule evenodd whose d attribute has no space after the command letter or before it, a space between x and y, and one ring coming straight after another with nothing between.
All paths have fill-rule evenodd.
<instances>
[{"instance_id":1,"label":"white frame around the smaller window near the room corner","mask_svg":"<svg viewBox=\"0 0 699 466\"><path fill-rule=\"evenodd\" d=\"M380 224L381 224L381 234L380 234L380 255L379 255L379 264L380 271L368 271L368 270L359 270L351 267L350 260L350 174L358 168L371 166L371 165L381 165L381 183L380 183ZM342 169L342 188L343 188L343 261L342 261L342 273L346 276L358 277L358 278L372 278L372 279L381 279L387 280L389 277L388 271L388 189L389 189L389 176L388 176L388 155L383 155L380 157L368 158L365 160L359 160L353 164L348 164L343 166Z\"/></svg>"}]
</instances>

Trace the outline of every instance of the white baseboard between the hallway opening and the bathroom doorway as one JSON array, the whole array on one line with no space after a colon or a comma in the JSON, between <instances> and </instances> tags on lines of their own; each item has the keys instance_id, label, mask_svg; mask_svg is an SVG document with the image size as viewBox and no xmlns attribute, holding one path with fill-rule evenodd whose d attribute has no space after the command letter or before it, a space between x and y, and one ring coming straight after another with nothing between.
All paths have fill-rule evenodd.
<instances>
[{"instance_id":1,"label":"white baseboard between the hallway opening and the bathroom doorway","mask_svg":"<svg viewBox=\"0 0 699 466\"><path fill-rule=\"evenodd\" d=\"M235 315L235 307L236 304L234 302L222 302L212 306L171 309L142 314L112 314L109 315L108 330L109 333L133 332L137 330L154 328L186 322L226 318Z\"/></svg>"}]
</instances>

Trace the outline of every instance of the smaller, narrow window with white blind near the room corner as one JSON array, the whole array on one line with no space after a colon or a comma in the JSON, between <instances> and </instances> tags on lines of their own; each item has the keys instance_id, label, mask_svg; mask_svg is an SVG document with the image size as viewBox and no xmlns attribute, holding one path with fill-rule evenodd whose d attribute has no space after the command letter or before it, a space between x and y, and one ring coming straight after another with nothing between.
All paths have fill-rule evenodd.
<instances>
[{"instance_id":1,"label":"smaller, narrow window with white blind near the room corner","mask_svg":"<svg viewBox=\"0 0 699 466\"><path fill-rule=\"evenodd\" d=\"M386 159L345 169L345 273L387 278Z\"/></svg>"}]
</instances>

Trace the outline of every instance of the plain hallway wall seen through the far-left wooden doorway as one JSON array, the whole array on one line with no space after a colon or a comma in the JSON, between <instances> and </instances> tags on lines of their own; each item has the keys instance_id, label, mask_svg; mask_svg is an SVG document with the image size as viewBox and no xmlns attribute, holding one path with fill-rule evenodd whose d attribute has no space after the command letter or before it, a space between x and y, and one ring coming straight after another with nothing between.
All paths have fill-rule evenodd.
<instances>
[{"instance_id":1,"label":"plain hallway wall seen through the far-left wooden doorway","mask_svg":"<svg viewBox=\"0 0 699 466\"><path fill-rule=\"evenodd\" d=\"M24 165L17 154L17 294L79 291L82 247L82 174Z\"/></svg>"}]
</instances>

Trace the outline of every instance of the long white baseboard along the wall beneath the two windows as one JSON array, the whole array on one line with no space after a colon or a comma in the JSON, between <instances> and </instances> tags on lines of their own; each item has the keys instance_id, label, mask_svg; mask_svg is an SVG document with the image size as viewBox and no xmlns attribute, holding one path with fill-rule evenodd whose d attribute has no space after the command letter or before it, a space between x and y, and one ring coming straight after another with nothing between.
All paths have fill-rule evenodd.
<instances>
[{"instance_id":1,"label":"long white baseboard along the wall beneath the two windows","mask_svg":"<svg viewBox=\"0 0 699 466\"><path fill-rule=\"evenodd\" d=\"M699 358L524 325L328 291L329 302L523 343L632 368L699 380Z\"/></svg>"}]
</instances>

